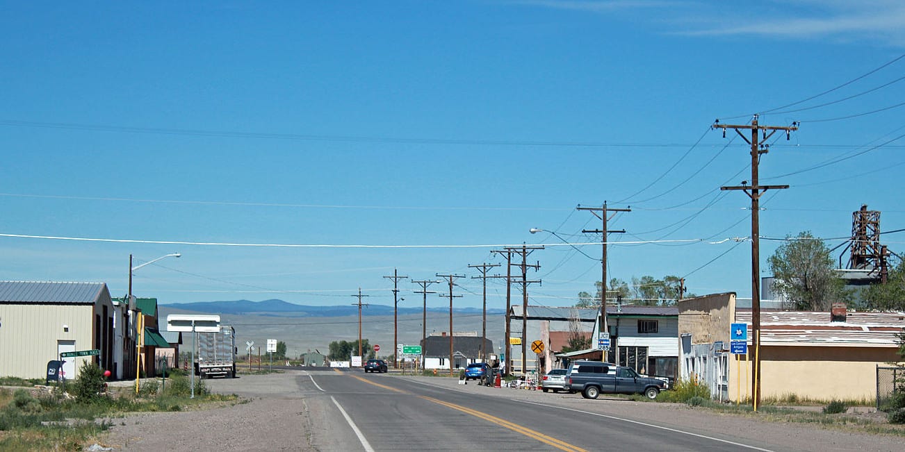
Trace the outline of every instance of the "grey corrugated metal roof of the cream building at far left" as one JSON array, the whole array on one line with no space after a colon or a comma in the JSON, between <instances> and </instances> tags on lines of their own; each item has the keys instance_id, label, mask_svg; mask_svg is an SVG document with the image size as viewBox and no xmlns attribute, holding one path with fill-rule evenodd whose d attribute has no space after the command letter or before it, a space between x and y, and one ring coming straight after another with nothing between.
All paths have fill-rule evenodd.
<instances>
[{"instance_id":1,"label":"grey corrugated metal roof of the cream building at far left","mask_svg":"<svg viewBox=\"0 0 905 452\"><path fill-rule=\"evenodd\" d=\"M0 303L94 304L107 285L88 282L0 281Z\"/></svg>"}]
</instances>

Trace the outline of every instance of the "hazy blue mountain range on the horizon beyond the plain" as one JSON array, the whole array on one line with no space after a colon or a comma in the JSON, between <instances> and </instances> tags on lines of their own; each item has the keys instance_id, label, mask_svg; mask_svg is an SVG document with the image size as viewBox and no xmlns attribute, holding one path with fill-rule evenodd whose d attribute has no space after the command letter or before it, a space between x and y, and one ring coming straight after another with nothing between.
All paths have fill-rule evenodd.
<instances>
[{"instance_id":1,"label":"hazy blue mountain range on the horizon beyond the plain","mask_svg":"<svg viewBox=\"0 0 905 452\"><path fill-rule=\"evenodd\" d=\"M341 317L344 315L358 315L358 306L310 306L296 305L279 299L263 301L233 300L233 301L206 301L197 303L173 303L161 305L168 310L192 311L205 314L229 314L229 315L271 315L281 317ZM421 306L399 306L399 315L421 314ZM448 313L449 308L428 307L428 312ZM477 307L453 307L456 314L481 313ZM362 306L361 315L392 315L393 306L367 305ZM487 309L487 314L506 314L505 309Z\"/></svg>"}]
</instances>

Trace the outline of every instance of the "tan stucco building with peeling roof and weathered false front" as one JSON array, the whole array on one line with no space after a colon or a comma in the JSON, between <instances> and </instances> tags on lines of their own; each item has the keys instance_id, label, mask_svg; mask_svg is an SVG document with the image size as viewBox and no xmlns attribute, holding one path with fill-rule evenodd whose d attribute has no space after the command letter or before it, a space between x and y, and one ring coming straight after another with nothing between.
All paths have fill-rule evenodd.
<instances>
[{"instance_id":1,"label":"tan stucco building with peeling roof and weathered false front","mask_svg":"<svg viewBox=\"0 0 905 452\"><path fill-rule=\"evenodd\" d=\"M751 310L734 293L679 302L680 375L699 379L721 400L751 395L749 356L729 353L729 326L748 324ZM905 313L761 310L762 398L795 394L814 400L873 400L876 368L900 360L897 335ZM754 353L748 349L748 353Z\"/></svg>"}]
</instances>

